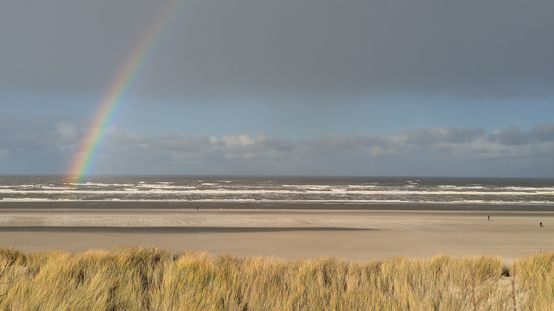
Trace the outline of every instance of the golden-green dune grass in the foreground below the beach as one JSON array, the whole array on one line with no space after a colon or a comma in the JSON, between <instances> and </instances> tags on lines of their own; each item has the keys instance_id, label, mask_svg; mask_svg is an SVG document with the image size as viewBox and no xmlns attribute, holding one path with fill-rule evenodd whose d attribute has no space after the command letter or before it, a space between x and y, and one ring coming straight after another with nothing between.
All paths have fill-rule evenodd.
<instances>
[{"instance_id":1,"label":"golden-green dune grass in the foreground below the beach","mask_svg":"<svg viewBox=\"0 0 554 311\"><path fill-rule=\"evenodd\" d=\"M0 310L552 310L554 255L350 261L0 250ZM513 270L513 269L512 269Z\"/></svg>"}]
</instances>

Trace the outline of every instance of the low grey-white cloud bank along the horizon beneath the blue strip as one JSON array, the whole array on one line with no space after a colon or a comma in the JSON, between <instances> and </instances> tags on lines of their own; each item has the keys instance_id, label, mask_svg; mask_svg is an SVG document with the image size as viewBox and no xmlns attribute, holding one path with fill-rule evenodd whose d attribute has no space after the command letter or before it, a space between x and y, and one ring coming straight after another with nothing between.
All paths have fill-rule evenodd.
<instances>
[{"instance_id":1,"label":"low grey-white cloud bank along the horizon beneath the blue strip","mask_svg":"<svg viewBox=\"0 0 554 311\"><path fill-rule=\"evenodd\" d=\"M63 174L83 133L67 120L0 123L0 173ZM529 131L418 128L377 136L306 141L247 133L143 136L111 128L96 156L98 174L285 174L548 177L554 123Z\"/></svg>"}]
</instances>

